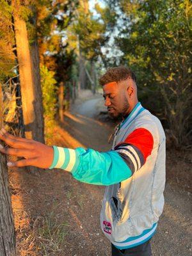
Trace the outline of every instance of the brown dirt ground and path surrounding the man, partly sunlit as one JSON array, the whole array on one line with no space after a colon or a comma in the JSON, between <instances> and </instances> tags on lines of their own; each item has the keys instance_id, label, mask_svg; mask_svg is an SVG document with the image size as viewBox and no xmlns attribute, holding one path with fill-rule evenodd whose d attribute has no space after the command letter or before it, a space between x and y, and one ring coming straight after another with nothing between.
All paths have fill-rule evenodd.
<instances>
[{"instance_id":1,"label":"brown dirt ground and path surrounding the man, partly sunlit","mask_svg":"<svg viewBox=\"0 0 192 256\"><path fill-rule=\"evenodd\" d=\"M108 137L115 124L99 115L104 113L100 95L86 97L89 100L78 100L65 113L47 143L100 151L111 148ZM154 256L192 255L190 154L167 152L165 205L152 238ZM104 186L78 182L63 170L12 169L9 175L20 256L110 255L110 243L99 223Z\"/></svg>"}]
</instances>

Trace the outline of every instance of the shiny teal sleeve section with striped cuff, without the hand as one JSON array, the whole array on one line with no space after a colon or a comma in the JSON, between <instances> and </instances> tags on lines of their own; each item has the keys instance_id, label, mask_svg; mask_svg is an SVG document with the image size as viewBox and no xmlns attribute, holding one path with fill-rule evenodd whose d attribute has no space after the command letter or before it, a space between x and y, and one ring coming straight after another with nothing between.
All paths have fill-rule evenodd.
<instances>
[{"instance_id":1,"label":"shiny teal sleeve section with striped cuff, without the hand","mask_svg":"<svg viewBox=\"0 0 192 256\"><path fill-rule=\"evenodd\" d=\"M132 172L124 159L115 151L98 152L84 148L54 146L51 168L61 168L72 173L81 182L109 186L131 177Z\"/></svg>"}]
</instances>

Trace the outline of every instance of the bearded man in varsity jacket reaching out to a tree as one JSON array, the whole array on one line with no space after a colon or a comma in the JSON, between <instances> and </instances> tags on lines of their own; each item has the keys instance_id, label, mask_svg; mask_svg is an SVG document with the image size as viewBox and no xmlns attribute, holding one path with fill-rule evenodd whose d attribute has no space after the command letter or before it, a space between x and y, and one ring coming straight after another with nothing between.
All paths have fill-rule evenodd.
<instances>
[{"instance_id":1,"label":"bearded man in varsity jacket reaching out to a tree","mask_svg":"<svg viewBox=\"0 0 192 256\"><path fill-rule=\"evenodd\" d=\"M136 77L129 68L109 68L100 84L109 114L122 117L111 150L49 147L1 129L0 139L12 148L0 152L25 158L8 166L61 168L82 182L107 186L100 225L112 255L150 256L150 239L164 205L163 127L138 102Z\"/></svg>"}]
</instances>

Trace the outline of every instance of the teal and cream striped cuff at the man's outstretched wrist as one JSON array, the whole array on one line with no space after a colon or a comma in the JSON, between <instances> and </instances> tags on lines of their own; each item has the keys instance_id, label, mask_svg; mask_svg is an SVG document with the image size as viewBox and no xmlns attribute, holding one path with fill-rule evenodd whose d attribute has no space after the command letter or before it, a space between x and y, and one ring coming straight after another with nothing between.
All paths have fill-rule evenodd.
<instances>
[{"instance_id":1,"label":"teal and cream striped cuff at the man's outstretched wrist","mask_svg":"<svg viewBox=\"0 0 192 256\"><path fill-rule=\"evenodd\" d=\"M54 159L49 169L60 168L67 172L73 172L79 165L79 154L71 148L53 146Z\"/></svg>"}]
</instances>

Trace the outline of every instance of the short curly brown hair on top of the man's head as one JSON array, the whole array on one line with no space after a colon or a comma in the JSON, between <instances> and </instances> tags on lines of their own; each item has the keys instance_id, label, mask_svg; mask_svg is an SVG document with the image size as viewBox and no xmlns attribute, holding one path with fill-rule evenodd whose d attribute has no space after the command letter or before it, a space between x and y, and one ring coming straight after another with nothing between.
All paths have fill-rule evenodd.
<instances>
[{"instance_id":1,"label":"short curly brown hair on top of the man's head","mask_svg":"<svg viewBox=\"0 0 192 256\"><path fill-rule=\"evenodd\" d=\"M128 77L131 77L131 79L136 82L136 76L130 68L124 66L108 68L107 72L102 77L100 77L99 83L100 85L104 86L104 84L111 82L118 83L120 81L124 81Z\"/></svg>"}]
</instances>

